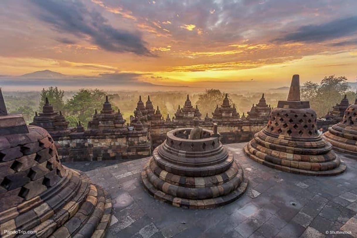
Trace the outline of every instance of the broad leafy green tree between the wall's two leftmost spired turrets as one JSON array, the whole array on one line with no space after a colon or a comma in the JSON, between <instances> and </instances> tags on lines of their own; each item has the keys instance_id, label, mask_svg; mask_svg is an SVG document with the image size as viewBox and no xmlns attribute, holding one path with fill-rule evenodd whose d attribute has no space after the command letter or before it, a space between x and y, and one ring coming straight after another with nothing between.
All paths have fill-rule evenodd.
<instances>
[{"instance_id":1,"label":"broad leafy green tree between the wall's two leftmost spired turrets","mask_svg":"<svg viewBox=\"0 0 357 238\"><path fill-rule=\"evenodd\" d=\"M106 95L105 91L99 89L80 89L78 93L67 101L66 111L81 121L82 125L86 126L92 119L95 109L99 112L103 108ZM108 95L108 98L111 100L112 95ZM117 110L114 105L112 105L112 108Z\"/></svg>"}]
</instances>

